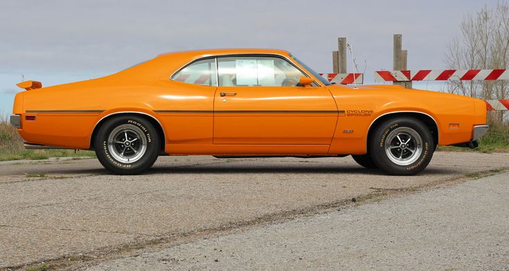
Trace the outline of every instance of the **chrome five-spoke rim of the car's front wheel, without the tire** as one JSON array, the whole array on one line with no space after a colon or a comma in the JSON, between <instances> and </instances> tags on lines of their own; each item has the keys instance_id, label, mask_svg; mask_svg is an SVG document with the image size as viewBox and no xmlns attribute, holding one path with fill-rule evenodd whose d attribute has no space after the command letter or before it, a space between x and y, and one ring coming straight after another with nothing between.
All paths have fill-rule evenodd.
<instances>
[{"instance_id":1,"label":"chrome five-spoke rim of the car's front wheel, without the tire","mask_svg":"<svg viewBox=\"0 0 509 271\"><path fill-rule=\"evenodd\" d=\"M396 128L387 135L385 152L394 164L408 166L419 159L422 153L422 138L412 128Z\"/></svg>"}]
</instances>

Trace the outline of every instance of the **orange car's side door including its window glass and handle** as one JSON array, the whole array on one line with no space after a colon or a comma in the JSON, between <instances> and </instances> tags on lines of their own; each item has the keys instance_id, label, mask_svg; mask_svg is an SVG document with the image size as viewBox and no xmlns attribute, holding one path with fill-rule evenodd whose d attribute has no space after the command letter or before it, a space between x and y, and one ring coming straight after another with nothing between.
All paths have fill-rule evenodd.
<instances>
[{"instance_id":1,"label":"orange car's side door including its window glass and handle","mask_svg":"<svg viewBox=\"0 0 509 271\"><path fill-rule=\"evenodd\" d=\"M334 98L276 55L217 58L215 144L328 145L337 123Z\"/></svg>"}]
</instances>

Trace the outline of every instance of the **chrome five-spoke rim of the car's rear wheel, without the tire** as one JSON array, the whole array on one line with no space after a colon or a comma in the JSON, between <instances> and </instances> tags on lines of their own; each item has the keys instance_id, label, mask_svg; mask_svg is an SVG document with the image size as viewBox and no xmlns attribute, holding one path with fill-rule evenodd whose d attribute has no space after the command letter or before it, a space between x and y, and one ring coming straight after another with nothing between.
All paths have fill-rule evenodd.
<instances>
[{"instance_id":1,"label":"chrome five-spoke rim of the car's rear wheel, without the tire","mask_svg":"<svg viewBox=\"0 0 509 271\"><path fill-rule=\"evenodd\" d=\"M145 133L134 125L120 125L109 133L108 150L117 161L132 164L147 151Z\"/></svg>"}]
</instances>

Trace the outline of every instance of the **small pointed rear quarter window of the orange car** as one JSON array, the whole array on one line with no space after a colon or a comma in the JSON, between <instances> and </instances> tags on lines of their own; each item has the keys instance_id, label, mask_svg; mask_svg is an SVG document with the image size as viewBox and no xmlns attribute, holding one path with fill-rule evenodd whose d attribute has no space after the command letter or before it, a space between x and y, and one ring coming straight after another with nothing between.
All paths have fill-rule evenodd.
<instances>
[{"instance_id":1,"label":"small pointed rear quarter window of the orange car","mask_svg":"<svg viewBox=\"0 0 509 271\"><path fill-rule=\"evenodd\" d=\"M217 86L215 59L199 60L175 73L172 80L195 85Z\"/></svg>"}]
</instances>

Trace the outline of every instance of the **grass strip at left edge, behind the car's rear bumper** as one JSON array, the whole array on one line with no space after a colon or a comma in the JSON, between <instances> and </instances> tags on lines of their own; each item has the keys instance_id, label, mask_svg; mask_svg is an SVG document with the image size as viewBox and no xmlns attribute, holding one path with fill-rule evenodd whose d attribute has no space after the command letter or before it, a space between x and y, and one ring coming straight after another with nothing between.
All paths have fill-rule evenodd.
<instances>
[{"instance_id":1,"label":"grass strip at left edge, behind the car's rear bumper","mask_svg":"<svg viewBox=\"0 0 509 271\"><path fill-rule=\"evenodd\" d=\"M0 161L40 160L50 157L95 157L90 150L26 150L23 139L7 119L0 120Z\"/></svg>"}]
</instances>

